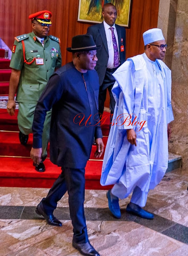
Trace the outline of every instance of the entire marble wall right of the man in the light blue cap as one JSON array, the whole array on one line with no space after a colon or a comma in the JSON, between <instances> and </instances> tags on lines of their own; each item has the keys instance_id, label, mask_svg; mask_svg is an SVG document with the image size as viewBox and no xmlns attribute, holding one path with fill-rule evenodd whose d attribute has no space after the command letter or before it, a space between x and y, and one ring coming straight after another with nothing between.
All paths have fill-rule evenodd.
<instances>
[{"instance_id":1,"label":"entire marble wall right of the man in the light blue cap","mask_svg":"<svg viewBox=\"0 0 188 256\"><path fill-rule=\"evenodd\" d=\"M167 11L165 11L167 10ZM164 20L161 17L166 17ZM188 4L187 0L160 0L158 27L166 31L165 62L172 70L174 121L169 151L183 157L188 167Z\"/></svg>"}]
</instances>

